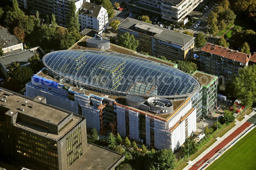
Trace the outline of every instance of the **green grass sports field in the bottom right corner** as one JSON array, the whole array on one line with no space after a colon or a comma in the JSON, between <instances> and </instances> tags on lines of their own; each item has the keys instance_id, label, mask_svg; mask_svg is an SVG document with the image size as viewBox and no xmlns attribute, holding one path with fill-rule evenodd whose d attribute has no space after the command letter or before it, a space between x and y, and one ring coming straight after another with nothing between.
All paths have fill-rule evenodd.
<instances>
[{"instance_id":1,"label":"green grass sports field in the bottom right corner","mask_svg":"<svg viewBox=\"0 0 256 170\"><path fill-rule=\"evenodd\" d=\"M206 170L252 170L256 169L256 128L240 139Z\"/></svg>"}]
</instances>

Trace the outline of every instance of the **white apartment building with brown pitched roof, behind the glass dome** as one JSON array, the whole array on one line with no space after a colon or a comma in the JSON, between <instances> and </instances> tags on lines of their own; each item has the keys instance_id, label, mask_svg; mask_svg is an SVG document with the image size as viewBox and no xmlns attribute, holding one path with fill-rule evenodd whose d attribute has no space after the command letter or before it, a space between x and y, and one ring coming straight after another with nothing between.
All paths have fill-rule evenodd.
<instances>
[{"instance_id":1,"label":"white apartment building with brown pitched roof, behind the glass dome","mask_svg":"<svg viewBox=\"0 0 256 170\"><path fill-rule=\"evenodd\" d=\"M98 30L98 34L108 27L108 13L105 8L93 3L84 2L79 8L79 23L81 29L90 27Z\"/></svg>"}]
</instances>

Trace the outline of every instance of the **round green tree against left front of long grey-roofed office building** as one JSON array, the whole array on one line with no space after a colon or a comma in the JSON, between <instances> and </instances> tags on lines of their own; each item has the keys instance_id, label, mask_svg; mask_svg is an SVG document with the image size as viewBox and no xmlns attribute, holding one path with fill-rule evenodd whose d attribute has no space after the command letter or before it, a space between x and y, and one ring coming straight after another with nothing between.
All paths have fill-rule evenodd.
<instances>
[{"instance_id":1,"label":"round green tree against left front of long grey-roofed office building","mask_svg":"<svg viewBox=\"0 0 256 170\"><path fill-rule=\"evenodd\" d=\"M135 40L133 35L130 35L128 32L125 32L124 35L120 36L119 44L122 47L135 51L140 42L139 40Z\"/></svg>"}]
</instances>

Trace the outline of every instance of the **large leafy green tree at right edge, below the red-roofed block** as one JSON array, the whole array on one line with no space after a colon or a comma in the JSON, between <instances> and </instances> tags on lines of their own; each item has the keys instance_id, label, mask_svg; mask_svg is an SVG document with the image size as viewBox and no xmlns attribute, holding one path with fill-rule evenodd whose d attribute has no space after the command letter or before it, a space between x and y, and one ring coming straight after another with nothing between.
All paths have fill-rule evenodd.
<instances>
[{"instance_id":1,"label":"large leafy green tree at right edge, below the red-roofed block","mask_svg":"<svg viewBox=\"0 0 256 170\"><path fill-rule=\"evenodd\" d=\"M256 102L256 65L244 67L239 70L239 74L234 78L235 96L246 106L250 107ZM246 95L246 97L245 97ZM246 98L246 100L245 100Z\"/></svg>"}]
</instances>

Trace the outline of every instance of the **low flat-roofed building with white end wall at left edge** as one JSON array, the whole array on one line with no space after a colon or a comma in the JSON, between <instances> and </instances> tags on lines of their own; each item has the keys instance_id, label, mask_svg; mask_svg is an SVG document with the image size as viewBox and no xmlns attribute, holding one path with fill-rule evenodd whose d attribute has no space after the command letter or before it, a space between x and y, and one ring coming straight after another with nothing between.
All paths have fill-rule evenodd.
<instances>
[{"instance_id":1,"label":"low flat-roofed building with white end wall at left edge","mask_svg":"<svg viewBox=\"0 0 256 170\"><path fill-rule=\"evenodd\" d=\"M0 48L4 51L4 55L23 51L23 43L10 33L8 27L0 25L0 38Z\"/></svg>"}]
</instances>

